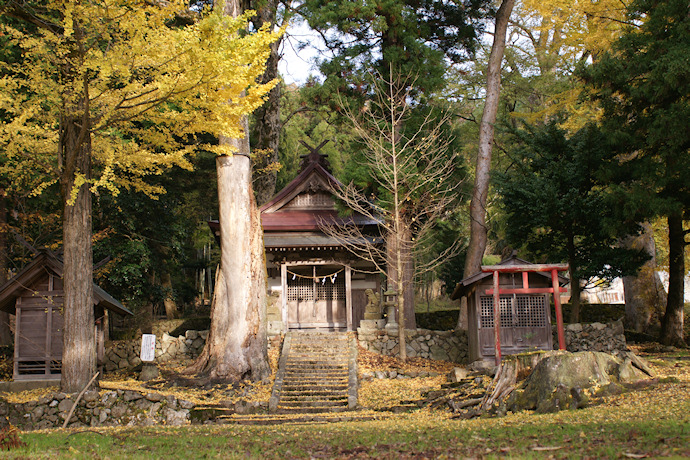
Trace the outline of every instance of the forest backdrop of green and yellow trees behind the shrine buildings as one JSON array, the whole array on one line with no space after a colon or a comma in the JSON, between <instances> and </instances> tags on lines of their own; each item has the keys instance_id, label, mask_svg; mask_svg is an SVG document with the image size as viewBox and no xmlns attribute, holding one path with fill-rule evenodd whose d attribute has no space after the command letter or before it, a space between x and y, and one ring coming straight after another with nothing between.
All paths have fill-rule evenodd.
<instances>
[{"instance_id":1,"label":"forest backdrop of green and yellow trees behind the shrine buildings","mask_svg":"<svg viewBox=\"0 0 690 460\"><path fill-rule=\"evenodd\" d=\"M203 16L203 2L190 6L191 16ZM466 248L500 4L260 0L246 6L257 11L250 30L301 22L325 46L315 57L320 75L299 85L278 84L250 118L259 204L296 175L300 155L307 153L301 141L329 140L321 152L334 175L376 194L343 104L366 112L377 81L404 75L416 83L407 88L405 103L413 110L398 127L401 136L416 132L427 116L443 120L452 139L452 180L460 184L426 254L458 241ZM686 274L688 17L687 2L678 0L517 1L501 69L485 256L495 255L495 261L517 250L532 262L569 262L585 287L595 277L646 276L638 315L644 320L633 321L642 330L666 312L666 304L650 294L656 292L654 272L678 273L680 267L681 280ZM289 32L282 40L289 40ZM0 48L3 62L17 59L7 35ZM264 83L277 76L279 42L271 52ZM7 111L2 116L6 127ZM155 315L208 312L219 249L207 221L217 218L218 197L215 153L197 146L216 140L203 132L194 139L185 157L192 170L172 167L147 179L153 189L165 190L155 199L134 187L93 195L93 260L103 261L95 279L135 312L136 324ZM42 161L56 159L35 160L23 163L30 172L21 178L27 180L17 180L17 165L0 152L0 268L6 279L31 259L31 248L62 246L59 184L36 193L33 177L46 170ZM465 253L417 279L418 294L438 285L443 295L452 291L463 278ZM682 288L680 299L673 297L676 291L671 289L669 301L680 303L680 317L670 318L680 321L682 331ZM682 332L680 341L677 334L667 341L679 344Z\"/></svg>"}]
</instances>

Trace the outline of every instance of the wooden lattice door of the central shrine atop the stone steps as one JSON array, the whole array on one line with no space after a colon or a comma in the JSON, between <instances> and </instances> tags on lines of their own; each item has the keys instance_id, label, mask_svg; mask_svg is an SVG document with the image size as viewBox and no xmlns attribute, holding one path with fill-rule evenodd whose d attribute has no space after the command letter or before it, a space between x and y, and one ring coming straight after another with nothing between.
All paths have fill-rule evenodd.
<instances>
[{"instance_id":1,"label":"wooden lattice door of the central shrine atop the stone steps","mask_svg":"<svg viewBox=\"0 0 690 460\"><path fill-rule=\"evenodd\" d=\"M338 265L287 268L288 329L347 327L345 270Z\"/></svg>"}]
</instances>

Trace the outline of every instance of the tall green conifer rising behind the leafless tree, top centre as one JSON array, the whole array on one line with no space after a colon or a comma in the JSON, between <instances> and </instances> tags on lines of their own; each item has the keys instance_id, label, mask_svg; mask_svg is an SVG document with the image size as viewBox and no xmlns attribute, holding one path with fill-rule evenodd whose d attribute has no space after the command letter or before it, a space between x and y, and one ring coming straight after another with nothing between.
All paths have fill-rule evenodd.
<instances>
[{"instance_id":1,"label":"tall green conifer rising behind the leafless tree, top centre","mask_svg":"<svg viewBox=\"0 0 690 460\"><path fill-rule=\"evenodd\" d=\"M365 104L376 91L388 92L372 86L368 75L373 73L382 81L414 82L410 88L393 88L393 94L408 98L394 101L398 107L430 96L444 86L448 63L462 62L474 51L489 4L486 0L306 0L300 14L321 34L332 53L320 66L326 76L326 92L314 102L334 104L330 95L337 92ZM393 127L394 143L403 138L400 123ZM395 267L389 271L388 278L397 279ZM405 265L405 271L406 326L414 328L412 263Z\"/></svg>"}]
</instances>

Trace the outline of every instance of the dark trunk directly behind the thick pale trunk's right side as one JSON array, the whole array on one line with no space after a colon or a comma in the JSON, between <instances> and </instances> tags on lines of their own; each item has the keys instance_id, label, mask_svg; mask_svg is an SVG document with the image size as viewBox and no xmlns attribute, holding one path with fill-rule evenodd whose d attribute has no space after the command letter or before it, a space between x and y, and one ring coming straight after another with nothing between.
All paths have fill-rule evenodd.
<instances>
[{"instance_id":1,"label":"dark trunk directly behind the thick pale trunk's right side","mask_svg":"<svg viewBox=\"0 0 690 460\"><path fill-rule=\"evenodd\" d=\"M252 22L256 29L264 24L276 24L277 0L260 2L254 8L257 10ZM278 78L278 61L280 61L280 43L282 39L271 43L271 54L266 62L266 70L259 83L268 83ZM268 93L264 105L254 112L254 126L252 128L252 146L256 153L262 155L255 159L254 166L254 196L259 206L270 200L276 190L276 170L267 166L278 163L278 146L280 144L280 85L275 85ZM257 174L258 172L258 174Z\"/></svg>"}]
</instances>

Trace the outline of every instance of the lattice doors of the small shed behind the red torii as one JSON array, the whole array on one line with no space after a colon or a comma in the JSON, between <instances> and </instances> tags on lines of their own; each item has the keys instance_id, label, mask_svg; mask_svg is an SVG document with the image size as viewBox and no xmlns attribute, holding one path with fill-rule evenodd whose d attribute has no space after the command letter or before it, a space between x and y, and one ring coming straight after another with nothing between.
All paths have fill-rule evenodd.
<instances>
[{"instance_id":1,"label":"lattice doors of the small shed behind the red torii","mask_svg":"<svg viewBox=\"0 0 690 460\"><path fill-rule=\"evenodd\" d=\"M479 296L479 347L483 356L495 356L493 296ZM551 321L547 295L502 295L501 350L505 354L550 349Z\"/></svg>"}]
</instances>

